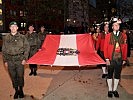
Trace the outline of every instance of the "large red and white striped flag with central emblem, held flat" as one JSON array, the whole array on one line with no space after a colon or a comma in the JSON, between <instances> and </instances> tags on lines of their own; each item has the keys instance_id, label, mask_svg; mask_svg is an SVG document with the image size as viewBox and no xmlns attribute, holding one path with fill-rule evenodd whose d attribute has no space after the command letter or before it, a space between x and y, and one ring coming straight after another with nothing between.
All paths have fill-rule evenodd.
<instances>
[{"instance_id":1,"label":"large red and white striped flag with central emblem, held flat","mask_svg":"<svg viewBox=\"0 0 133 100\"><path fill-rule=\"evenodd\" d=\"M47 35L41 50L27 63L51 66L105 64L96 53L90 34Z\"/></svg>"}]
</instances>

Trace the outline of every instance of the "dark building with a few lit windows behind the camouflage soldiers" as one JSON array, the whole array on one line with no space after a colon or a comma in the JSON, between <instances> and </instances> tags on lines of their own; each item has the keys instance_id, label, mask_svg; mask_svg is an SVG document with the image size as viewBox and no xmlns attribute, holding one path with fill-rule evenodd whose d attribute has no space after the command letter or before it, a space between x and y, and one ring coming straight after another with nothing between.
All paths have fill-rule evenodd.
<instances>
[{"instance_id":1,"label":"dark building with a few lit windows behind the camouflage soldiers","mask_svg":"<svg viewBox=\"0 0 133 100\"><path fill-rule=\"evenodd\" d=\"M63 4L62 0L0 0L0 32L9 31L11 21L18 22L20 31L27 30L29 24L34 24L36 30L41 25L54 31L63 30Z\"/></svg>"}]
</instances>

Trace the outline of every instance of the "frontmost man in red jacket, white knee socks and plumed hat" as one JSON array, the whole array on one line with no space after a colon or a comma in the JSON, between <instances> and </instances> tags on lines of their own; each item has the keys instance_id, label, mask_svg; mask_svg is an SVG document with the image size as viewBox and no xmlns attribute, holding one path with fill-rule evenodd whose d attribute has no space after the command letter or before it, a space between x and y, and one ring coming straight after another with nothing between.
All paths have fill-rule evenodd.
<instances>
[{"instance_id":1,"label":"frontmost man in red jacket, white knee socks and plumed hat","mask_svg":"<svg viewBox=\"0 0 133 100\"><path fill-rule=\"evenodd\" d=\"M119 31L119 28L119 20L114 18L112 21L113 32L106 35L104 42L104 57L108 65L108 97L113 95L119 97L117 86L119 84L122 64L127 59L127 37Z\"/></svg>"}]
</instances>

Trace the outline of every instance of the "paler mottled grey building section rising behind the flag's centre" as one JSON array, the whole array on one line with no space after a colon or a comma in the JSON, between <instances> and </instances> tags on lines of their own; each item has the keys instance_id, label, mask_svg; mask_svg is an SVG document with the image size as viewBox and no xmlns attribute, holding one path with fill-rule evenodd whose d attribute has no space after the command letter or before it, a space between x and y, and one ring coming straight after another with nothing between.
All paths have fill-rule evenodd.
<instances>
[{"instance_id":1,"label":"paler mottled grey building section rising behind the flag's centre","mask_svg":"<svg viewBox=\"0 0 133 100\"><path fill-rule=\"evenodd\" d=\"M69 24L76 27L89 22L88 0L69 0L68 19Z\"/></svg>"}]
</instances>

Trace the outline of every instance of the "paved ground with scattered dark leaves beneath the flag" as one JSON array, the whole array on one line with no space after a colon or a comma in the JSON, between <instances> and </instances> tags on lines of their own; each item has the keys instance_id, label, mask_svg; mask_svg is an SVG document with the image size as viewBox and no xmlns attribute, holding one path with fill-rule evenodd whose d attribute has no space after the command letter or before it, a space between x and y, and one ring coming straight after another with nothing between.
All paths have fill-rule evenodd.
<instances>
[{"instance_id":1,"label":"paved ground with scattered dark leaves beneath the flag","mask_svg":"<svg viewBox=\"0 0 133 100\"><path fill-rule=\"evenodd\" d=\"M122 70L118 87L118 100L133 100L133 57L129 67ZM4 69L0 54L0 100L13 100L14 90L8 73ZM91 68L38 66L38 75L29 76L25 66L25 98L18 100L117 100L108 98L106 80L96 66Z\"/></svg>"}]
</instances>

